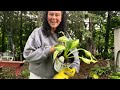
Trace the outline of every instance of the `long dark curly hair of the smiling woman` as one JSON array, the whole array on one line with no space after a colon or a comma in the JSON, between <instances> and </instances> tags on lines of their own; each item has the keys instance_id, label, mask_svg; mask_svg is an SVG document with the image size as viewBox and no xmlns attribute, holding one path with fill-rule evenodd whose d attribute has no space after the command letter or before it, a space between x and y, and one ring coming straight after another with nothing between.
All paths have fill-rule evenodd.
<instances>
[{"instance_id":1,"label":"long dark curly hair of the smiling woman","mask_svg":"<svg viewBox=\"0 0 120 90\"><path fill-rule=\"evenodd\" d=\"M44 33L44 35L46 35L47 37L49 37L50 34L51 34L51 27L48 24L47 17L48 17L48 11L45 11L44 14L43 14L43 33ZM58 37L61 36L61 34L59 34L60 31L63 31L66 34L67 17L68 16L66 14L66 11L62 11L62 20L61 20L61 23L59 24L59 26L55 30L55 33L58 35Z\"/></svg>"}]
</instances>

